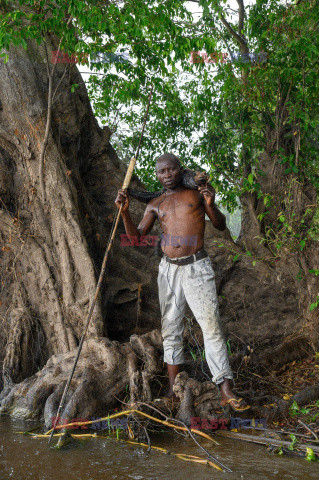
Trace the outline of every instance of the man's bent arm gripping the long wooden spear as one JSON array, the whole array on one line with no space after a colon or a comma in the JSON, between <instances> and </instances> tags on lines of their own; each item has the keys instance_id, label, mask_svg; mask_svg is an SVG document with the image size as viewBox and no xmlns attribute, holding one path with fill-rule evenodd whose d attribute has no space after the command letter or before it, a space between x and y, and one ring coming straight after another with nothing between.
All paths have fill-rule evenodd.
<instances>
[{"instance_id":1,"label":"man's bent arm gripping the long wooden spear","mask_svg":"<svg viewBox=\"0 0 319 480\"><path fill-rule=\"evenodd\" d=\"M121 215L123 218L126 234L131 241L136 239L137 242L139 242L140 237L147 235L152 230L155 223L156 216L154 216L152 207L150 205L147 205L144 212L144 217L140 222L139 226L136 227L128 210L129 199L125 190L119 190L117 199L115 200L117 208L120 208L121 203L123 203ZM132 243L134 244L134 241Z\"/></svg>"}]
</instances>

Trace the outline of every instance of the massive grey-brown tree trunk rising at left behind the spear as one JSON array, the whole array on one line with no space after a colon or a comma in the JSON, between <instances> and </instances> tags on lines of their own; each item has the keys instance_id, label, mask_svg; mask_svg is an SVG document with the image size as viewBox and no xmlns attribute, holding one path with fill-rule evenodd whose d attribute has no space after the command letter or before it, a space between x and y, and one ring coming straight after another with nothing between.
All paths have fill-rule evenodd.
<instances>
[{"instance_id":1,"label":"massive grey-brown tree trunk rising at left behind the spear","mask_svg":"<svg viewBox=\"0 0 319 480\"><path fill-rule=\"evenodd\" d=\"M47 40L49 58L56 45L56 39ZM2 411L41 415L48 396L58 395L56 386L61 393L61 382L70 371L96 288L125 166L109 143L109 129L101 129L93 116L77 68L58 64L53 89L61 84L45 153L43 201L39 158L48 102L45 52L43 46L29 43L27 53L12 50L10 60L0 62ZM79 85L74 93L72 84ZM135 215L141 213L142 207L135 205ZM113 339L128 339L136 327L146 331L158 324L157 303L152 302L156 297L152 255L152 249L133 250L116 241L87 334L86 353L77 370L84 371L85 364L89 370L83 375L90 382L88 377L104 361L114 395L129 383L128 372L136 369L138 362L135 360L134 367L132 355L125 355L125 361L121 358L125 351L133 352L129 344L122 348L114 343L110 350L105 337L109 332ZM137 350L143 357L142 349ZM15 385L25 378L21 388ZM83 382L75 384L78 388ZM29 392L29 403L21 402L21 389ZM35 393L39 389L41 393Z\"/></svg>"}]
</instances>

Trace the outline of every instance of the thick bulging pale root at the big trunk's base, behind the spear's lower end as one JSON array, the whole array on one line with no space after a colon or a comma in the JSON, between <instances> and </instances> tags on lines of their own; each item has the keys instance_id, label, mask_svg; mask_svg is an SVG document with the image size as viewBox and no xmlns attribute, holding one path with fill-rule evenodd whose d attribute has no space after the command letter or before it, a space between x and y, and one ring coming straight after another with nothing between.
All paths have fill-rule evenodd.
<instances>
[{"instance_id":1,"label":"thick bulging pale root at the big trunk's base, behind the spear's lower end","mask_svg":"<svg viewBox=\"0 0 319 480\"><path fill-rule=\"evenodd\" d=\"M150 360L151 353L151 360ZM35 375L0 394L1 412L26 419L41 419L49 427L55 416L64 386L72 368L76 349L52 355ZM155 376L162 372L162 342L158 330L130 342L111 342L107 338L90 337L84 342L63 418L90 419L102 416L125 400L150 401L159 390ZM130 389L130 398L127 392Z\"/></svg>"}]
</instances>

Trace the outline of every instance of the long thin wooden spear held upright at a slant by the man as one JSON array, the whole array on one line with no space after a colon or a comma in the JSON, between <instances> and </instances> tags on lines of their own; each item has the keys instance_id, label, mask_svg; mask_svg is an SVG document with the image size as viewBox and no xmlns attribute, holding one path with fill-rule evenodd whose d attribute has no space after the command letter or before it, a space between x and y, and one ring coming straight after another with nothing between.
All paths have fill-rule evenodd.
<instances>
[{"instance_id":1,"label":"long thin wooden spear held upright at a slant by the man","mask_svg":"<svg viewBox=\"0 0 319 480\"><path fill-rule=\"evenodd\" d=\"M142 143L142 138L143 138L143 133L144 133L145 125L146 125L148 111L149 111L150 104L151 104L152 93L153 93L153 85L151 87L150 95L148 97L147 109L146 109L146 114L145 114L145 118L144 118L144 122L143 122L143 127L142 127L140 140L139 140L139 143L138 143L138 146L137 146L137 149L136 149L135 156L131 159L131 161L129 163L129 166L127 168L127 172L126 172L126 175L125 175L125 179L124 179L124 182L123 182L122 189L128 188L128 186L130 184L130 181L131 181L131 178L132 178L132 175L133 175L133 170L134 170L136 160L137 160L137 157L138 157L138 154L139 154L139 151L140 151L140 146L141 146L141 143ZM84 339L85 339L85 336L86 336L86 332L89 328L89 324L90 324L90 321L91 321L91 318L92 318L92 315L93 315L94 307L95 307L97 298L98 298L99 293L100 293L102 280L103 280L104 273L105 273L105 268L106 268L106 262L107 262L107 259L108 259L108 256L109 256L109 251L111 250L111 247L112 247L112 244L113 244L113 240L115 238L115 233L116 233L117 226L118 226L118 223L119 223L119 220L120 220L122 207L123 207L123 204L121 204L120 208L118 209L117 217L116 217L116 220L115 220L115 223L114 223L114 227L113 227L113 230L111 232L111 237L110 237L109 243L106 247L100 277L99 277L99 280L98 280L98 283L97 283L97 286L96 286L96 290L95 290L95 295L93 297L93 300L92 300L92 303L91 303L91 306L90 306L90 310L89 310L88 317L87 317L87 320L86 320L84 332L82 334L82 337L81 337L81 340L80 340L80 343L79 343L79 346L78 346L78 351L77 351L77 354L76 354L76 357L75 357L75 360L74 360L73 368L72 368L72 371L71 371L70 376L68 378L68 381L65 385L64 392L63 392L63 395L62 395L62 398L61 398L61 401L60 401L60 405L59 405L56 417L54 419L54 425L53 425L52 432L51 432L51 435L50 435L50 438L49 438L49 444L51 443L55 428L56 428L57 423L58 423L58 421L61 417L61 412L62 412L64 402L65 402L67 393L69 391L70 384L71 384L71 381L72 381L72 378L73 378L73 375L74 375L74 372L75 372L75 369L76 369L76 366L77 366L77 363L78 363L78 360L79 360L79 357L80 357L80 353L81 353L81 350L82 350L82 346L83 346L83 342L84 342Z\"/></svg>"}]
</instances>

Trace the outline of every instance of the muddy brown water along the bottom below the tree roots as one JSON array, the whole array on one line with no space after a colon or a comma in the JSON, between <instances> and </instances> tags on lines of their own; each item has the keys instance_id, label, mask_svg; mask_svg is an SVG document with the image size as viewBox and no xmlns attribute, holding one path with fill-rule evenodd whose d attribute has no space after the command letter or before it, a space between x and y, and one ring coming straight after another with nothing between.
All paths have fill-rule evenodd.
<instances>
[{"instance_id":1,"label":"muddy brown water along the bottom below the tree roots","mask_svg":"<svg viewBox=\"0 0 319 480\"><path fill-rule=\"evenodd\" d=\"M319 463L280 457L265 447L218 437L221 445L202 444L233 470L222 473L171 455L146 452L115 439L89 439L64 450L50 449L46 439L19 435L35 424L0 417L0 479L14 480L310 480L319 478ZM217 438L217 437L216 437ZM157 434L152 444L176 453L201 456L190 439Z\"/></svg>"}]
</instances>

